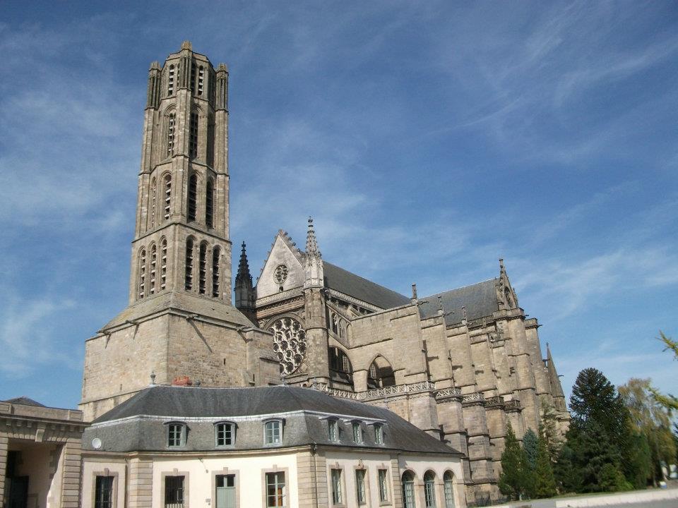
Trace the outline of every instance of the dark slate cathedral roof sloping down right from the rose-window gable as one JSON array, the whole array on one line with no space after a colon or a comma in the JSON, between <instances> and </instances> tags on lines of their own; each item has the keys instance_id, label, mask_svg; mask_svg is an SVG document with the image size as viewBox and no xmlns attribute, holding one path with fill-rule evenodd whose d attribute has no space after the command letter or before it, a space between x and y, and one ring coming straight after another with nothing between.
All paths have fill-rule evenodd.
<instances>
[{"instance_id":1,"label":"dark slate cathedral roof sloping down right from the rose-window gable","mask_svg":"<svg viewBox=\"0 0 678 508\"><path fill-rule=\"evenodd\" d=\"M335 289L379 308L400 307L410 303L410 298L391 289L375 284L323 260L325 286Z\"/></svg>"}]
</instances>

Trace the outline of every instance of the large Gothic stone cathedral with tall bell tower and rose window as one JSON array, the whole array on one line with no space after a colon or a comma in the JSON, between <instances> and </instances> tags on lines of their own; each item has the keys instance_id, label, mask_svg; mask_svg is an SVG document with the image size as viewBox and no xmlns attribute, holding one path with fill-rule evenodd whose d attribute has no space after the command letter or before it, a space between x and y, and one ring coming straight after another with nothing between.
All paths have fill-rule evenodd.
<instances>
[{"instance_id":1,"label":"large Gothic stone cathedral with tall bell tower and rose window","mask_svg":"<svg viewBox=\"0 0 678 508\"><path fill-rule=\"evenodd\" d=\"M85 341L84 421L149 383L298 387L395 413L458 454L466 501L499 497L507 424L521 438L545 413L569 423L503 260L496 277L404 296L324 260L309 218L304 250L275 234L256 284L242 243L232 284L228 116L224 64L184 42L150 66L129 305Z\"/></svg>"}]
</instances>

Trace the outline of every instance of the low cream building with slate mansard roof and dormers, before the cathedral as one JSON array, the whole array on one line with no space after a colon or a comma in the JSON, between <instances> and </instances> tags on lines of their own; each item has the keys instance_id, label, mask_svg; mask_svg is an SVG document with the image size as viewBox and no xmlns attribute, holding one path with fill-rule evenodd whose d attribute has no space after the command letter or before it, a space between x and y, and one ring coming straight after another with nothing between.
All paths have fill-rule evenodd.
<instances>
[{"instance_id":1,"label":"low cream building with slate mansard roof and dormers, before the cathedral","mask_svg":"<svg viewBox=\"0 0 678 508\"><path fill-rule=\"evenodd\" d=\"M155 385L85 430L82 506L463 507L460 458L313 389Z\"/></svg>"}]
</instances>

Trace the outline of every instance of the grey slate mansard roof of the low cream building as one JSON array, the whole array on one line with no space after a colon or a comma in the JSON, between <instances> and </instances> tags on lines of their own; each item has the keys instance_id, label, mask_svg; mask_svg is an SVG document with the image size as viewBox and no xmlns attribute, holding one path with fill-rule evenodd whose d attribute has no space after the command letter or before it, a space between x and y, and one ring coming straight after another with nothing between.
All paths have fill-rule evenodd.
<instances>
[{"instance_id":1,"label":"grey slate mansard roof of the low cream building","mask_svg":"<svg viewBox=\"0 0 678 508\"><path fill-rule=\"evenodd\" d=\"M340 418L339 443L328 438L327 422L316 413L331 413L342 418L381 421L384 429L384 444L376 444L371 437L374 431L364 425L364 443L352 442L350 423ZM262 423L254 417L273 413L294 413L285 416L283 447L305 444L326 444L342 447L371 447L399 449L417 453L458 454L435 437L424 433L396 413L381 407L369 406L357 401L335 399L310 388L275 386L250 388L204 388L153 386L141 390L131 399L93 421L85 431L83 446L89 448L93 437L99 437L109 451L135 451L166 449L163 424L166 421L182 421L182 418L201 418L189 421L187 449L214 449L213 423L238 422L235 449L261 449ZM160 416L161 418L133 418L135 416ZM162 418L164 417L164 418ZM165 420L167 418L167 420Z\"/></svg>"}]
</instances>

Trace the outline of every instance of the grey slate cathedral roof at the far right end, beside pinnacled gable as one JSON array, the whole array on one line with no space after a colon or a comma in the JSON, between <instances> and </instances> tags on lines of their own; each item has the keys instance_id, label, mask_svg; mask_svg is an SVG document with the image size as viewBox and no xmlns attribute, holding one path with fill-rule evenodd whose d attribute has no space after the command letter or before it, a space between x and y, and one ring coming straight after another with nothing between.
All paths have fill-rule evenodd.
<instances>
[{"instance_id":1,"label":"grey slate cathedral roof at the far right end, beside pinnacled gable","mask_svg":"<svg viewBox=\"0 0 678 508\"><path fill-rule=\"evenodd\" d=\"M499 310L496 303L496 291L494 283L496 279L489 279L470 286L436 293L431 296L420 298L420 313L422 317L432 317L438 313L438 296L442 297L446 325L457 325L463 318L462 307L466 307L468 320L479 317L491 316L495 310ZM427 301L426 303L423 303Z\"/></svg>"}]
</instances>

